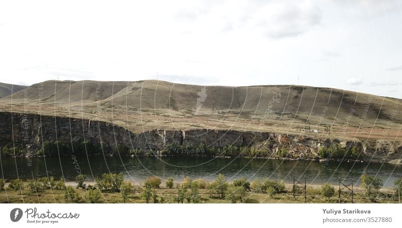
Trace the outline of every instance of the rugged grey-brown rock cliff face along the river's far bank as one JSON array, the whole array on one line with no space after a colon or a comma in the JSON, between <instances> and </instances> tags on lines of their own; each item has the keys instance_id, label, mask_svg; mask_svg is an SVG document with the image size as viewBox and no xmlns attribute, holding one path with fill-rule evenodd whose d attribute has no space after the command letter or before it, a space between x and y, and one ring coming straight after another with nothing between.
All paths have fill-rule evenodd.
<instances>
[{"instance_id":1,"label":"rugged grey-brown rock cliff face along the river's far bank","mask_svg":"<svg viewBox=\"0 0 402 228\"><path fill-rule=\"evenodd\" d=\"M269 157L275 157L280 149L285 148L287 157L310 159L317 158L318 150L323 146L340 144L343 147L357 147L362 151L359 160L391 161L400 159L400 143L322 140L270 132L195 129L152 130L135 134L113 123L90 121L86 119L40 116L24 113L0 113L0 146L14 142L14 145L27 146L32 151L38 150L44 141L102 142L110 151L119 144L143 151L159 151L167 145L197 147L203 143L207 148L220 148L228 145L249 148L266 148Z\"/></svg>"}]
</instances>

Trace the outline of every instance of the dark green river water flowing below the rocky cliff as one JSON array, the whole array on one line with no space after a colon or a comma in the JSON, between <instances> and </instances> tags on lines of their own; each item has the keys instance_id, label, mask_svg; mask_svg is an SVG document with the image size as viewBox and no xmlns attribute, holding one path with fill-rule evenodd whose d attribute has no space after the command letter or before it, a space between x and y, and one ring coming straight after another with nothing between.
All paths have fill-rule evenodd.
<instances>
[{"instance_id":1,"label":"dark green river water flowing below the rocky cliff","mask_svg":"<svg viewBox=\"0 0 402 228\"><path fill-rule=\"evenodd\" d=\"M384 186L393 186L396 178L402 177L402 165L368 162L329 163L302 160L273 160L252 158L211 158L211 157L119 157L119 156L64 156L14 158L2 156L0 178L32 178L41 176L64 176L66 181L74 180L78 173L88 179L105 172L123 172L125 178L142 182L146 177L159 176L161 179L172 177L180 181L185 176L191 179L213 180L223 173L229 181L244 176L250 180L268 177L287 183L306 175L307 183L322 184L329 181L338 184L341 180L354 180L359 184L365 172L377 175ZM18 171L18 172L17 172Z\"/></svg>"}]
</instances>

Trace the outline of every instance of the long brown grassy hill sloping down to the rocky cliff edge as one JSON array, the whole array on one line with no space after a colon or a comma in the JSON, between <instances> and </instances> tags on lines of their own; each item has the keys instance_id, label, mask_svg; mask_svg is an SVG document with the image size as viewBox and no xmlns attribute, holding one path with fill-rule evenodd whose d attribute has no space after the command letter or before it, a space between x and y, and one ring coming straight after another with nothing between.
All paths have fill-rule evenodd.
<instances>
[{"instance_id":1,"label":"long brown grassy hill sloping down to the rocky cliff edge","mask_svg":"<svg viewBox=\"0 0 402 228\"><path fill-rule=\"evenodd\" d=\"M46 81L16 92L12 103L15 112L113 122L133 132L209 128L399 140L398 102L333 88L202 87L146 80ZM10 111L12 103L11 96L0 99L2 110ZM305 130L308 126L311 131Z\"/></svg>"}]
</instances>

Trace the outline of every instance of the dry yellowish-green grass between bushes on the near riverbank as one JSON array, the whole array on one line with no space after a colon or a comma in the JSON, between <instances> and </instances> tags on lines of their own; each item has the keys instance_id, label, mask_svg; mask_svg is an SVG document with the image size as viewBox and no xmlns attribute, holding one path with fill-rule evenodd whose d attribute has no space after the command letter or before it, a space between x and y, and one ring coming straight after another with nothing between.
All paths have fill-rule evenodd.
<instances>
[{"instance_id":1,"label":"dry yellowish-green grass between bushes on the near riverbank","mask_svg":"<svg viewBox=\"0 0 402 228\"><path fill-rule=\"evenodd\" d=\"M337 186L334 186L337 189ZM128 195L126 203L145 203L146 201L141 197L142 186L134 185L131 192ZM286 184L286 189L282 193L276 193L270 197L266 193L256 193L254 191L248 191L249 196L244 203L338 203L338 192L335 195L328 198L321 195L321 185L308 185L307 187L307 200L304 201L302 196L297 196L293 199L293 193L291 192L292 185ZM372 203L365 195L363 195L363 189L360 187L355 188L354 203ZM76 188L75 191L79 197L76 202L86 203L85 190ZM175 197L177 195L176 188L167 188L161 186L155 189L159 200L164 198L163 203L177 203ZM46 189L39 193L31 192L29 190L7 189L0 191L0 203L71 203L71 200L66 201L64 196L65 190L51 190ZM199 188L200 203L230 203L229 200L219 197L210 197L209 190L206 188ZM152 203L152 198L149 203ZM393 189L382 189L378 194L376 203L398 203L397 194L394 194ZM119 192L102 192L98 203L123 203L121 193ZM159 202L160 203L160 202ZM187 203L184 200L184 203Z\"/></svg>"}]
</instances>

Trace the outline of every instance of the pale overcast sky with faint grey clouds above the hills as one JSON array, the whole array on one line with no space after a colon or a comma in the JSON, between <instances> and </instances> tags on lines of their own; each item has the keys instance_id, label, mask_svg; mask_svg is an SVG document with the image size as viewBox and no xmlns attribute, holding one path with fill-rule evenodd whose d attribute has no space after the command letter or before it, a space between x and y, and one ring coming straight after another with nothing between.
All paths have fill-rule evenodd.
<instances>
[{"instance_id":1,"label":"pale overcast sky with faint grey clouds above the hills","mask_svg":"<svg viewBox=\"0 0 402 228\"><path fill-rule=\"evenodd\" d=\"M307 85L402 98L402 0L3 1L0 82Z\"/></svg>"}]
</instances>

